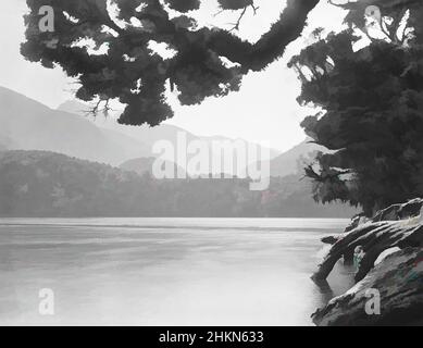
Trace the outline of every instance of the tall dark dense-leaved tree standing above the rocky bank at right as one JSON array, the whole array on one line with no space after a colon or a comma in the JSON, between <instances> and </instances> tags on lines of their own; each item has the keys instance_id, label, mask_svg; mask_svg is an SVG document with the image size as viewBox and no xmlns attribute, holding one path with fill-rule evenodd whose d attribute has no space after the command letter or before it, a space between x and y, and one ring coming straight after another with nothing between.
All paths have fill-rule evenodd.
<instances>
[{"instance_id":1,"label":"tall dark dense-leaved tree standing above the rocky bank at right","mask_svg":"<svg viewBox=\"0 0 423 348\"><path fill-rule=\"evenodd\" d=\"M306 169L314 198L361 206L366 215L423 196L423 1L339 4L349 28L322 37L289 63L298 101L321 109L302 126L332 150ZM359 38L366 45L358 46Z\"/></svg>"}]
</instances>

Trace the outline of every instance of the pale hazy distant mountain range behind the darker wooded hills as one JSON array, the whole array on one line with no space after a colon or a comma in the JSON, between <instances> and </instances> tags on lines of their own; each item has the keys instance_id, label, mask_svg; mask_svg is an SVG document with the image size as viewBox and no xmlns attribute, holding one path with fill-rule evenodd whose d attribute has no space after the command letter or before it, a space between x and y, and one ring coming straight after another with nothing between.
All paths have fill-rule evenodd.
<instances>
[{"instance_id":1,"label":"pale hazy distant mountain range behind the darker wooded hills","mask_svg":"<svg viewBox=\"0 0 423 348\"><path fill-rule=\"evenodd\" d=\"M61 152L72 157L103 162L112 165L127 161L142 162L142 158L152 158L152 148L158 141L167 141L174 150L178 150L178 137L187 144L201 140L209 149L213 141L232 140L226 137L199 137L174 125L162 124L158 127L136 127L119 125L115 119L92 121L86 117L88 105L67 101L58 110L32 100L10 89L0 87L0 150L47 150ZM181 139L179 139L181 140ZM248 142L242 140L245 146ZM270 150L270 157L263 158L263 164L270 163L271 176L286 176L298 173L299 161L323 148L304 140L289 151L279 156ZM211 151L210 162L216 163L220 157ZM268 161L270 159L270 161ZM164 160L177 162L175 153L164 156ZM189 160L189 157L188 157ZM250 164L251 163L251 164ZM256 164L253 159L246 164ZM142 164L144 165L144 164ZM141 165L141 170L142 170ZM185 167L184 164L179 166ZM231 167L224 170L227 174ZM137 170L139 172L139 169ZM210 170L212 174L219 170ZM208 176L203 173L202 176Z\"/></svg>"}]
</instances>

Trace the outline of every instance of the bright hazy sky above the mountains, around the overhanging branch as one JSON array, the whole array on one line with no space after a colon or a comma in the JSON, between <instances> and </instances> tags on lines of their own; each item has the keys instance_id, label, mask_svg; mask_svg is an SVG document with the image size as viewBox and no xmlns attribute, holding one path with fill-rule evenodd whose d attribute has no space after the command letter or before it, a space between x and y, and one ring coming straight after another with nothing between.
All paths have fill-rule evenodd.
<instances>
[{"instance_id":1,"label":"bright hazy sky above the mountains, around the overhanging branch","mask_svg":"<svg viewBox=\"0 0 423 348\"><path fill-rule=\"evenodd\" d=\"M207 0L198 14L202 24L231 27L237 13L216 13L215 0ZM289 46L285 57L273 63L265 72L250 73L244 78L239 92L228 97L206 100L199 107L181 107L171 98L175 117L167 121L198 135L223 135L252 141L270 141L271 146L286 150L304 138L299 126L312 110L300 108L296 98L300 83L286 67L289 58L308 41L310 32L319 26L339 29L343 12L322 3L312 12L303 38ZM244 18L240 35L257 40L285 7L284 0L256 0L260 5L256 16ZM0 11L0 85L36 99L51 108L73 99L72 80L60 69L47 70L39 64L26 62L20 55L24 38L22 15L26 12L25 0L2 1Z\"/></svg>"}]
</instances>

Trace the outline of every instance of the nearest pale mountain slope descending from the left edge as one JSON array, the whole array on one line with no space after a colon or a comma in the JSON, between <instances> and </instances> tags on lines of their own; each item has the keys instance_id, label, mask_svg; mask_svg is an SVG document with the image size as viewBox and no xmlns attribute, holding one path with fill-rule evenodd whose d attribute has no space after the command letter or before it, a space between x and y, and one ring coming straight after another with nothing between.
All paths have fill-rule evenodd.
<instances>
[{"instance_id":1,"label":"nearest pale mountain slope descending from the left edge","mask_svg":"<svg viewBox=\"0 0 423 348\"><path fill-rule=\"evenodd\" d=\"M150 154L140 141L3 87L0 105L0 145L8 149L48 150L115 165Z\"/></svg>"}]
</instances>

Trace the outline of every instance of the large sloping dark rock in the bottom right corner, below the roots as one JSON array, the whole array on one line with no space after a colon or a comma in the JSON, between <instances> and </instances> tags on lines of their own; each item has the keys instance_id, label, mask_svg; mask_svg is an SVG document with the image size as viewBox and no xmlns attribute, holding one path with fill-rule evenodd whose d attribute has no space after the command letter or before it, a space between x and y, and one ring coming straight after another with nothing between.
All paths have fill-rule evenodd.
<instances>
[{"instance_id":1,"label":"large sloping dark rock in the bottom right corner, below the roots","mask_svg":"<svg viewBox=\"0 0 423 348\"><path fill-rule=\"evenodd\" d=\"M369 311L377 301L380 314ZM368 308L368 311L366 311ZM319 326L423 325L423 250L407 248L388 256L346 294L312 314Z\"/></svg>"}]
</instances>

